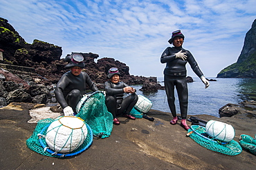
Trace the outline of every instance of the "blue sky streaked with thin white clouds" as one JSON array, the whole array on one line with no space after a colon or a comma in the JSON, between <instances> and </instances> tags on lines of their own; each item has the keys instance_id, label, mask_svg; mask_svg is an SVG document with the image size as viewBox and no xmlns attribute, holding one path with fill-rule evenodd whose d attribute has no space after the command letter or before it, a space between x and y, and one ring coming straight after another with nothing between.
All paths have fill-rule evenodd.
<instances>
[{"instance_id":1,"label":"blue sky streaked with thin white clouds","mask_svg":"<svg viewBox=\"0 0 256 170\"><path fill-rule=\"evenodd\" d=\"M134 76L163 77L160 62L175 30L185 35L206 78L235 63L256 19L255 0L0 0L27 43L34 39L71 52L92 52L129 66ZM97 59L95 60L97 62ZM196 74L187 64L188 76Z\"/></svg>"}]
</instances>

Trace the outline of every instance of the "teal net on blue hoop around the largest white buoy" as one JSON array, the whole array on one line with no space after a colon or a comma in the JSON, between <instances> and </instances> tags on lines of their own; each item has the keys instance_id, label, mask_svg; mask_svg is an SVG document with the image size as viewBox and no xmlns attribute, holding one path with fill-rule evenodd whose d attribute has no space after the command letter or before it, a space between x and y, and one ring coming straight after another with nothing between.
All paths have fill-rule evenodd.
<instances>
[{"instance_id":1,"label":"teal net on blue hoop around the largest white buoy","mask_svg":"<svg viewBox=\"0 0 256 170\"><path fill-rule=\"evenodd\" d=\"M88 129L88 133L86 136L86 139L84 140L84 142L82 143L82 145L80 145L80 147L78 147L77 149L75 149L75 151L72 151L71 153L68 154L57 154L57 153L50 153L46 150L44 150L45 148L42 147L41 143L39 142L39 138L41 138L42 136L46 136L46 130L45 127L48 127L48 125L50 125L51 123L53 123L55 119L53 118L46 118L44 120L39 120L37 123L37 127L35 127L35 130L33 132L33 135L30 136L30 138L28 138L28 140L26 140L26 145L28 146L29 149L42 154L43 156L50 156L50 157L55 157L55 158L64 158L65 156L73 156L76 155L77 153L80 153L81 151L84 151L84 149L88 148L91 145L92 142L92 133L90 131L89 128ZM47 129L47 128L46 128ZM42 137L43 144L45 146L47 146L47 143L45 141L45 138Z\"/></svg>"}]
</instances>

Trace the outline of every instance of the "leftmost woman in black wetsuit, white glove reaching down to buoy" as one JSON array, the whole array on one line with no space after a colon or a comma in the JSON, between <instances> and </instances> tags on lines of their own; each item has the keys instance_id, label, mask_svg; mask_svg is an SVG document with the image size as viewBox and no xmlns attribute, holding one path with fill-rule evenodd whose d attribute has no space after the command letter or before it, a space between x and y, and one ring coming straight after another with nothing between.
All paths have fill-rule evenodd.
<instances>
[{"instance_id":1,"label":"leftmost woman in black wetsuit, white glove reaching down to buoy","mask_svg":"<svg viewBox=\"0 0 256 170\"><path fill-rule=\"evenodd\" d=\"M86 94L86 86L93 92L98 91L95 83L91 81L86 72L82 72L85 67L84 56L80 53L73 53L66 56L64 61L68 61L66 68L70 68L60 78L55 88L55 96L63 108L65 116L73 116L77 114L75 107L84 94Z\"/></svg>"}]
</instances>

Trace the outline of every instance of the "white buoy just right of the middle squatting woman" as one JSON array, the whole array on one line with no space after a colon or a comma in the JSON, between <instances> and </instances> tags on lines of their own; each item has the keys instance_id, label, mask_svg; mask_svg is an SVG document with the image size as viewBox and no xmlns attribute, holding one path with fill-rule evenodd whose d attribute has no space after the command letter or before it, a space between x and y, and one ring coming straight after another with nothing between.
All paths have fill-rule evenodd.
<instances>
[{"instance_id":1,"label":"white buoy just right of the middle squatting woman","mask_svg":"<svg viewBox=\"0 0 256 170\"><path fill-rule=\"evenodd\" d=\"M152 105L152 102L148 98L138 94L138 101L134 107L146 114L151 109Z\"/></svg>"}]
</instances>

